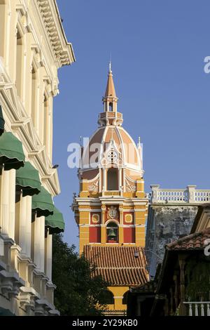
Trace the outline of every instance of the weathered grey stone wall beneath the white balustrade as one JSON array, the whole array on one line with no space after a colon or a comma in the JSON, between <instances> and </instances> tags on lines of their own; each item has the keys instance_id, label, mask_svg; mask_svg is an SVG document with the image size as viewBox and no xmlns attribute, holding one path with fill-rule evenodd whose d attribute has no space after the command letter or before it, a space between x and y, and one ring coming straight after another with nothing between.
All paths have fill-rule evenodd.
<instances>
[{"instance_id":1,"label":"weathered grey stone wall beneath the white balustrade","mask_svg":"<svg viewBox=\"0 0 210 330\"><path fill-rule=\"evenodd\" d=\"M155 275L158 263L165 254L165 245L189 235L197 213L197 206L151 205L146 233L148 270Z\"/></svg>"}]
</instances>

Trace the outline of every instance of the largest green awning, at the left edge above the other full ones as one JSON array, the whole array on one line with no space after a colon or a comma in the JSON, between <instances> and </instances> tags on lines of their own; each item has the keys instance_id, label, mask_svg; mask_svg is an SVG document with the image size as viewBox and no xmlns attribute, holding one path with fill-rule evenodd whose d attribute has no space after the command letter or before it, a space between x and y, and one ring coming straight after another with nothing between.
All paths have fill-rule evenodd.
<instances>
[{"instance_id":1,"label":"largest green awning, at the left edge above the other full ones","mask_svg":"<svg viewBox=\"0 0 210 330\"><path fill-rule=\"evenodd\" d=\"M0 163L5 171L20 169L24 166L25 154L22 150L22 142L13 136L11 132L4 132L0 136Z\"/></svg>"}]
</instances>

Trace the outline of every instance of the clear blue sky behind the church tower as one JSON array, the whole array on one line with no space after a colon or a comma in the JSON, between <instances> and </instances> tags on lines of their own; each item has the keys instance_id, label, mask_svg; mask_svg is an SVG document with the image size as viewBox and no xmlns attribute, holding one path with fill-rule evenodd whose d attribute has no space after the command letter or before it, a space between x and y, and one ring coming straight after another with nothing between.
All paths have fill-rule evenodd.
<instances>
[{"instance_id":1,"label":"clear blue sky behind the church tower","mask_svg":"<svg viewBox=\"0 0 210 330\"><path fill-rule=\"evenodd\" d=\"M54 164L62 193L64 239L78 245L69 207L78 192L67 145L90 136L102 112L110 53L123 126L144 143L151 184L210 189L210 3L194 0L58 0L76 62L59 70L54 103Z\"/></svg>"}]
</instances>

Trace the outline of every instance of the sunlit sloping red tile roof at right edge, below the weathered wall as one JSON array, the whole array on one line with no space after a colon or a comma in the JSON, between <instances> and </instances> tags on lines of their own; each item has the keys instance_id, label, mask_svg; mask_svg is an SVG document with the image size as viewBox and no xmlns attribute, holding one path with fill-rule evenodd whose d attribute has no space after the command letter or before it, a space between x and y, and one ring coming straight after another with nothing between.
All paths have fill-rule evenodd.
<instances>
[{"instance_id":1,"label":"sunlit sloping red tile roof at right edge, below the weathered wall","mask_svg":"<svg viewBox=\"0 0 210 330\"><path fill-rule=\"evenodd\" d=\"M178 239L178 241L167 244L166 249L201 250L207 246L207 244L204 244L206 239L210 239L210 227L205 230L202 230L202 232L195 232L194 234Z\"/></svg>"}]
</instances>

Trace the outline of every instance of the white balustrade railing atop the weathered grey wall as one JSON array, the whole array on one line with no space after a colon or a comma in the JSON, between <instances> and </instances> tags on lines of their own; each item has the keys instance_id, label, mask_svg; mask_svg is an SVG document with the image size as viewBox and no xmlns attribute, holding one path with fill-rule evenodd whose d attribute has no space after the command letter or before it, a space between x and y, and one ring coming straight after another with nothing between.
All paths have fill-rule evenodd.
<instances>
[{"instance_id":1,"label":"white balustrade railing atop the weathered grey wall","mask_svg":"<svg viewBox=\"0 0 210 330\"><path fill-rule=\"evenodd\" d=\"M188 185L186 189L161 189L160 185L151 185L149 194L151 203L208 203L210 202L210 189L195 189L195 185Z\"/></svg>"}]
</instances>

